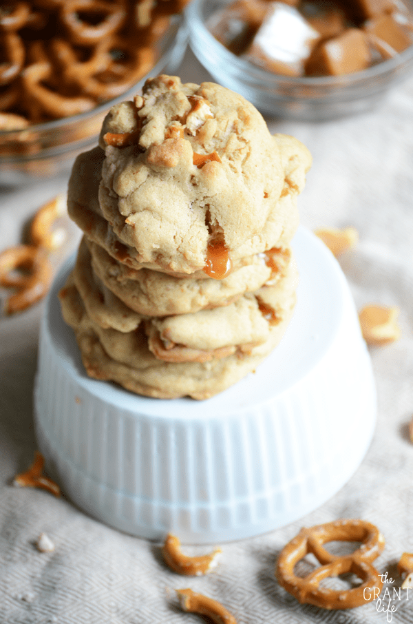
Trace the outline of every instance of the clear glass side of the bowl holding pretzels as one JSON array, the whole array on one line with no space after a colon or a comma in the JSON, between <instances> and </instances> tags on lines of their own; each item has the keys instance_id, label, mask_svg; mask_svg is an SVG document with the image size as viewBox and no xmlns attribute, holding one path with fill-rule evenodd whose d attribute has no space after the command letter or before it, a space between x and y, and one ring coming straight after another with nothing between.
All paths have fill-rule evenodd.
<instances>
[{"instance_id":1,"label":"clear glass side of the bowl holding pretzels","mask_svg":"<svg viewBox=\"0 0 413 624\"><path fill-rule=\"evenodd\" d=\"M118 98L92 111L32 125L24 130L0 132L0 185L21 185L69 170L74 158L96 145L109 108L136 94L148 76L171 74L187 48L188 32L182 15L174 15L158 41L158 62L149 74Z\"/></svg>"}]
</instances>

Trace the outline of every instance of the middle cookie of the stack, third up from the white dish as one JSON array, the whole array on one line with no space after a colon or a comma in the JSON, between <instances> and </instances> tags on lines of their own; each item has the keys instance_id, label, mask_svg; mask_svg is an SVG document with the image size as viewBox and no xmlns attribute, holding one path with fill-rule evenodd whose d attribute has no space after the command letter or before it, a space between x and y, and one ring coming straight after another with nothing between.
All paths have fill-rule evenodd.
<instances>
[{"instance_id":1,"label":"middle cookie of the stack, third up from the white dish","mask_svg":"<svg viewBox=\"0 0 413 624\"><path fill-rule=\"evenodd\" d=\"M251 264L230 273L222 280L176 278L151 269L130 269L91 240L87 240L92 267L105 287L131 310L147 316L194 313L224 306L244 293L275 284L284 274L290 259L289 249L272 249L253 256Z\"/></svg>"}]
</instances>

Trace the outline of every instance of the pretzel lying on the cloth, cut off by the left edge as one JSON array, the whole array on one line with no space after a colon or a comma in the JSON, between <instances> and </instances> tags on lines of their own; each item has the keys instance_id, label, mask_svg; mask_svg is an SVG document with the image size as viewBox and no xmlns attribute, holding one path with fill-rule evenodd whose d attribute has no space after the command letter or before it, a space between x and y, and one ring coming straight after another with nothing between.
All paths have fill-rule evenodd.
<instances>
[{"instance_id":1,"label":"pretzel lying on the cloth, cut off by the left edge","mask_svg":"<svg viewBox=\"0 0 413 624\"><path fill-rule=\"evenodd\" d=\"M28 275L14 273L22 268ZM51 280L52 267L43 249L17 245L0 253L0 286L18 289L6 302L6 314L25 310L44 297Z\"/></svg>"}]
</instances>

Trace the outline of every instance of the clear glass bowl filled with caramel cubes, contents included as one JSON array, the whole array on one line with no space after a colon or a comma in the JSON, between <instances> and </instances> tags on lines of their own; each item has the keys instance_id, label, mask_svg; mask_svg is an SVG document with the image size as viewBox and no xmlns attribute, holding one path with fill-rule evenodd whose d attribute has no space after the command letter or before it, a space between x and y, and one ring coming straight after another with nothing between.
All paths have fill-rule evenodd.
<instances>
[{"instance_id":1,"label":"clear glass bowl filled with caramel cubes, contents included","mask_svg":"<svg viewBox=\"0 0 413 624\"><path fill-rule=\"evenodd\" d=\"M193 0L187 23L214 79L273 116L364 112L413 71L412 0Z\"/></svg>"}]
</instances>

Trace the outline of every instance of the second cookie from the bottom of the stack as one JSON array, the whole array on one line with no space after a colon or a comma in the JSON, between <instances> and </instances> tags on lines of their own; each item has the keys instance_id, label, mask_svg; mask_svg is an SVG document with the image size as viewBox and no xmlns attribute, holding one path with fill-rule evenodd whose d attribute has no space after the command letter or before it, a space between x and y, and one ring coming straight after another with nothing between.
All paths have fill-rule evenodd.
<instances>
[{"instance_id":1,"label":"second cookie from the bottom of the stack","mask_svg":"<svg viewBox=\"0 0 413 624\"><path fill-rule=\"evenodd\" d=\"M92 323L101 329L134 333L145 322L149 350L165 362L207 362L249 353L268 340L271 326L279 323L295 301L297 270L291 262L284 278L273 286L246 293L235 302L196 313L142 317L109 291L94 273L85 242L78 251L72 279ZM97 331L102 340L103 333ZM118 337L125 343L125 337ZM129 335L129 342L134 337ZM110 349L110 347L109 347ZM129 349L127 349L129 352ZM117 356L113 356L117 359ZM127 360L136 365L136 362Z\"/></svg>"}]
</instances>

